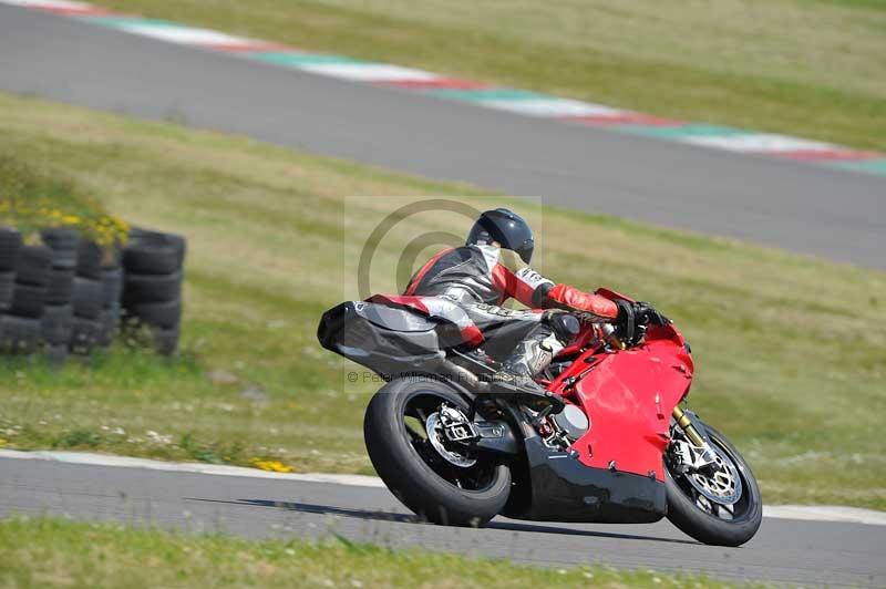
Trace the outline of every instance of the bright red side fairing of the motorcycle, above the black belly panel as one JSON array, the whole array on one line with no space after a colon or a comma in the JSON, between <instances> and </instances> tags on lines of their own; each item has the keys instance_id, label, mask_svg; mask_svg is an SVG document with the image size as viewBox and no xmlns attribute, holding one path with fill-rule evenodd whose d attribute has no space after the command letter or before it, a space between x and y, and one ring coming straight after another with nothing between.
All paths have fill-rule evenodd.
<instances>
[{"instance_id":1,"label":"bright red side fairing of the motorcycle, above the black belly panel","mask_svg":"<svg viewBox=\"0 0 886 589\"><path fill-rule=\"evenodd\" d=\"M646 342L631 350L588 350L548 389L576 403L590 420L590 430L573 445L583 464L653 473L663 480L661 456L671 412L689 393L692 370L682 337L667 326L650 329Z\"/></svg>"}]
</instances>

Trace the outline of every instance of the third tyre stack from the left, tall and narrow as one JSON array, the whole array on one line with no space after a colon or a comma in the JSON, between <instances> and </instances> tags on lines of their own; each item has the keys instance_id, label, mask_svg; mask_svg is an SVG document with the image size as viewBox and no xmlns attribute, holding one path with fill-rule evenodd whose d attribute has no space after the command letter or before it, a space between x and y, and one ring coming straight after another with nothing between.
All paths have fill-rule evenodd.
<instances>
[{"instance_id":1,"label":"third tyre stack from the left, tall and narrow","mask_svg":"<svg viewBox=\"0 0 886 589\"><path fill-rule=\"evenodd\" d=\"M43 244L52 250L42 334L50 364L58 366L68 358L72 337L74 312L71 299L81 239L80 234L70 228L44 229L40 235Z\"/></svg>"}]
</instances>

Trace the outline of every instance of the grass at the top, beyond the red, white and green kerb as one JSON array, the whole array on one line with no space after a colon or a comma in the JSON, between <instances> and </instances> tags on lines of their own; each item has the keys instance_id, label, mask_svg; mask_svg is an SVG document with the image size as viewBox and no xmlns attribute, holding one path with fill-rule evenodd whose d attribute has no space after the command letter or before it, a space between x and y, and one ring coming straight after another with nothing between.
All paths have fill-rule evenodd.
<instances>
[{"instance_id":1,"label":"grass at the top, beyond the red, white and green kerb","mask_svg":"<svg viewBox=\"0 0 886 589\"><path fill-rule=\"evenodd\" d=\"M886 149L878 0L96 0L666 117Z\"/></svg>"}]
</instances>

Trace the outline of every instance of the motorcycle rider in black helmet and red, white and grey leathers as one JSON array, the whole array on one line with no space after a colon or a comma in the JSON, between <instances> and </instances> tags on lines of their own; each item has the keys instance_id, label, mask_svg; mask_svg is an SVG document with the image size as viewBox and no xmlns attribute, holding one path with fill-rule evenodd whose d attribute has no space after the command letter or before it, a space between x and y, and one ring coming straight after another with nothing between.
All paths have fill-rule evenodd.
<instances>
[{"instance_id":1,"label":"motorcycle rider in black helmet and red, white and grey leathers","mask_svg":"<svg viewBox=\"0 0 886 589\"><path fill-rule=\"evenodd\" d=\"M543 277L528 267L534 247L532 229L519 215L506 208L486 210L465 245L431 258L404 294L419 298L429 314L457 326L463 348L482 345L483 352L507 354L494 381L534 392L544 391L534 378L578 333L578 320L563 310L611 323L627 344L638 343L642 324L663 321L647 303L611 301ZM528 309L502 307L509 298Z\"/></svg>"}]
</instances>

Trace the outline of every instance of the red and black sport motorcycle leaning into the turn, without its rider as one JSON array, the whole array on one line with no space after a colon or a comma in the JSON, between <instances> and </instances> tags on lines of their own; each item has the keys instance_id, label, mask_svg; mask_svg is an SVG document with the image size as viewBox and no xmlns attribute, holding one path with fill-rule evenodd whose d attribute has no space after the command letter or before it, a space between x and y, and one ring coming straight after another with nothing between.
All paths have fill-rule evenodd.
<instances>
[{"instance_id":1,"label":"red and black sport motorcycle leaning into the turn, without its rider","mask_svg":"<svg viewBox=\"0 0 886 589\"><path fill-rule=\"evenodd\" d=\"M679 406L693 363L671 322L648 324L630 348L609 326L583 322L539 375L544 395L490 382L495 360L447 345L449 328L409 298L381 297L330 309L318 330L324 348L387 381L367 409L367 450L415 514L454 526L498 514L611 524L667 516L722 546L756 533L762 502L750 467Z\"/></svg>"}]
</instances>

